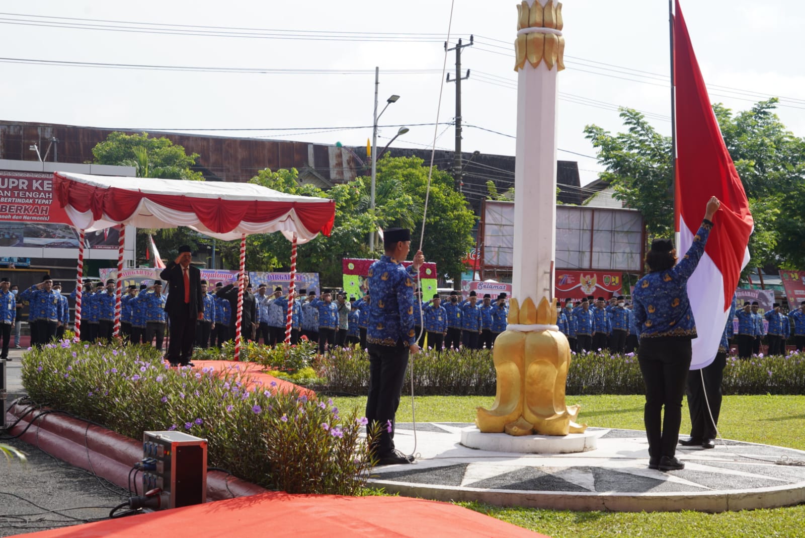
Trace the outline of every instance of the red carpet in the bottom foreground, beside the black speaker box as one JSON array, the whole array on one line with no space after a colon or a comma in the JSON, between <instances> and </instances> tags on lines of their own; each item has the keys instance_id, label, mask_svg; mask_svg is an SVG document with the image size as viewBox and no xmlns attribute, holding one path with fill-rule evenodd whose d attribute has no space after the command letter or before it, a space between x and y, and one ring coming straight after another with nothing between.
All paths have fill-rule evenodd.
<instances>
[{"instance_id":1,"label":"red carpet in the bottom foreground, beside the black speaker box","mask_svg":"<svg viewBox=\"0 0 805 538\"><path fill-rule=\"evenodd\" d=\"M539 538L499 519L447 503L404 497L266 493L122 519L31 532L27 538Z\"/></svg>"}]
</instances>

